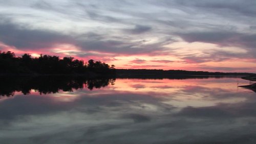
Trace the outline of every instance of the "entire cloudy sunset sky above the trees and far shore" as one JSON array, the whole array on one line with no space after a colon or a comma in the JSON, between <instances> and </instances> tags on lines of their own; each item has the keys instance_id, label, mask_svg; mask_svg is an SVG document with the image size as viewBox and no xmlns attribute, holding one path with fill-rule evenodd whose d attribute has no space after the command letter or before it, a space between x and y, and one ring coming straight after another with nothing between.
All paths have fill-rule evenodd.
<instances>
[{"instance_id":1,"label":"entire cloudy sunset sky above the trees and far shore","mask_svg":"<svg viewBox=\"0 0 256 144\"><path fill-rule=\"evenodd\" d=\"M255 0L0 0L0 51L256 72Z\"/></svg>"}]
</instances>

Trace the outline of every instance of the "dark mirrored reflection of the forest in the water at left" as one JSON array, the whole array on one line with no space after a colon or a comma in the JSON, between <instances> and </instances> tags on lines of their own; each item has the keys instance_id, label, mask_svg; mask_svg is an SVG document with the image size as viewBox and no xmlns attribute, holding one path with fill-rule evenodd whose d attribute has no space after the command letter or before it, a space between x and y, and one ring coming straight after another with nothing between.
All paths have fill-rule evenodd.
<instances>
[{"instance_id":1,"label":"dark mirrored reflection of the forest in the water at left","mask_svg":"<svg viewBox=\"0 0 256 144\"><path fill-rule=\"evenodd\" d=\"M83 77L2 77L0 78L0 95L10 97L15 91L30 94L31 89L40 94L56 93L59 90L73 91L73 89L101 88L114 84L115 79L97 78L86 79Z\"/></svg>"}]
</instances>

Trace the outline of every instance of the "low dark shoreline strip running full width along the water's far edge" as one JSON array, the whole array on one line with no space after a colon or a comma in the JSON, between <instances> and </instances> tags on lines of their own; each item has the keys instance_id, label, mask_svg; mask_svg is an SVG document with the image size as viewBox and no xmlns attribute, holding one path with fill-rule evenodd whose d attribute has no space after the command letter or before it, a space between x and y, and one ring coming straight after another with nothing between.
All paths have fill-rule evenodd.
<instances>
[{"instance_id":1,"label":"low dark shoreline strip running full width along the water's far edge","mask_svg":"<svg viewBox=\"0 0 256 144\"><path fill-rule=\"evenodd\" d=\"M162 69L115 69L115 75L108 74L96 74L91 71L87 71L84 74L0 74L0 76L66 76L66 77L85 77L85 78L152 78L152 79L164 79L164 78L221 78L221 77L244 77L256 75L253 73L222 73L222 72L208 72L208 71L188 71L188 70L162 70Z\"/></svg>"}]
</instances>

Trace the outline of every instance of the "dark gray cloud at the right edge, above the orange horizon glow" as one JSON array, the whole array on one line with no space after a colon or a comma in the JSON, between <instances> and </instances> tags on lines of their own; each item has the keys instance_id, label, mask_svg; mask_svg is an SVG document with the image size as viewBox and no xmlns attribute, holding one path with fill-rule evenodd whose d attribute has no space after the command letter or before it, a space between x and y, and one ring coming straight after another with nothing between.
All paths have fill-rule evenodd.
<instances>
[{"instance_id":1,"label":"dark gray cloud at the right edge, above the orange horizon glow","mask_svg":"<svg viewBox=\"0 0 256 144\"><path fill-rule=\"evenodd\" d=\"M217 44L223 49L225 47L233 46L233 47L240 47L240 49L244 49L248 51L247 54L245 53L232 53L232 52L225 52L225 51L216 51L211 55L211 57L218 56L225 56L226 58L232 57L240 57L240 58L248 58L252 57L255 58L256 54L256 34L243 34L243 33L236 33L236 32L190 32L190 33L177 33L183 40L187 42L204 42L204 43L214 43ZM232 48L228 48L232 49ZM190 57L191 58L191 57ZM209 57L210 58L210 57ZM195 61L196 62L196 61Z\"/></svg>"}]
</instances>

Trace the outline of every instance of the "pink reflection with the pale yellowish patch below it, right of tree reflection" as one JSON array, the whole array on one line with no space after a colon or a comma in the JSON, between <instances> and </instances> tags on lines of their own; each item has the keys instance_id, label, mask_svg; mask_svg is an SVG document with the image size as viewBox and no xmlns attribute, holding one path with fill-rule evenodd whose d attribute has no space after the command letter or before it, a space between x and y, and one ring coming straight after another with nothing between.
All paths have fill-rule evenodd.
<instances>
[{"instance_id":1,"label":"pink reflection with the pale yellowish patch below it, right of tree reflection","mask_svg":"<svg viewBox=\"0 0 256 144\"><path fill-rule=\"evenodd\" d=\"M214 106L219 103L237 103L245 101L241 97L249 89L238 87L246 83L241 78L208 79L117 79L115 91L149 94L161 97L163 103L176 107Z\"/></svg>"}]
</instances>

